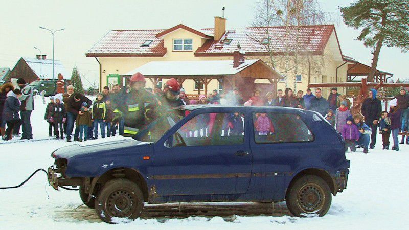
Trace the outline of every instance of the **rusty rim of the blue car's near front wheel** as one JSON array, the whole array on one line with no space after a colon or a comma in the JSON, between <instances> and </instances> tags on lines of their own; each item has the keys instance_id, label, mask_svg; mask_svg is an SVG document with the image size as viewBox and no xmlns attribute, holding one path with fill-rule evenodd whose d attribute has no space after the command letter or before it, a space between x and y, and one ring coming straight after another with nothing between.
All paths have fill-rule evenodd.
<instances>
[{"instance_id":1,"label":"rusty rim of the blue car's near front wheel","mask_svg":"<svg viewBox=\"0 0 409 230\"><path fill-rule=\"evenodd\" d=\"M119 189L109 194L107 211L112 217L130 217L137 209L137 198L131 191Z\"/></svg>"}]
</instances>

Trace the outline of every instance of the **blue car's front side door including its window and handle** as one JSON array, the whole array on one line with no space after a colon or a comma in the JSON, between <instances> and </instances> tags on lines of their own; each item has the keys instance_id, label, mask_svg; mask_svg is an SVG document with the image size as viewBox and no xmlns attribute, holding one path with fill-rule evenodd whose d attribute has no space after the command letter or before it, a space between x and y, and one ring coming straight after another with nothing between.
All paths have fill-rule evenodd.
<instances>
[{"instance_id":1,"label":"blue car's front side door including its window and handle","mask_svg":"<svg viewBox=\"0 0 409 230\"><path fill-rule=\"evenodd\" d=\"M157 195L245 193L252 170L247 129L240 109L200 113L175 125L154 148Z\"/></svg>"}]
</instances>

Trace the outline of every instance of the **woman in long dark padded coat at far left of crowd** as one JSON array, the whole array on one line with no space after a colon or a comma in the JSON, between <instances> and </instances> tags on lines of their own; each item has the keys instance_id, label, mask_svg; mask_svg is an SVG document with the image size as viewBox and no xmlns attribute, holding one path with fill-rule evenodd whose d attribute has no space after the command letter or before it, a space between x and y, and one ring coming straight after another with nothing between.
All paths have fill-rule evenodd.
<instances>
[{"instance_id":1,"label":"woman in long dark padded coat at far left of crowd","mask_svg":"<svg viewBox=\"0 0 409 230\"><path fill-rule=\"evenodd\" d=\"M18 114L20 111L21 102L17 97L21 96L20 89L14 89L7 93L7 99L4 103L2 119L6 121L7 129L6 134L3 136L3 140L8 141L11 139L11 132L16 125L20 125L21 120Z\"/></svg>"}]
</instances>

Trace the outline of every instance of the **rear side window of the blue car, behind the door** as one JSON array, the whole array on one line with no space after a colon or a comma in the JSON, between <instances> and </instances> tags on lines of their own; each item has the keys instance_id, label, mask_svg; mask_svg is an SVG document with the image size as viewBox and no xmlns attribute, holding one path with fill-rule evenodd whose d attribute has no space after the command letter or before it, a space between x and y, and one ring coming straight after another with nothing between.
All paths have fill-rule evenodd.
<instances>
[{"instance_id":1,"label":"rear side window of the blue car, behind the door","mask_svg":"<svg viewBox=\"0 0 409 230\"><path fill-rule=\"evenodd\" d=\"M314 136L300 116L291 113L253 113L257 144L310 142Z\"/></svg>"}]
</instances>

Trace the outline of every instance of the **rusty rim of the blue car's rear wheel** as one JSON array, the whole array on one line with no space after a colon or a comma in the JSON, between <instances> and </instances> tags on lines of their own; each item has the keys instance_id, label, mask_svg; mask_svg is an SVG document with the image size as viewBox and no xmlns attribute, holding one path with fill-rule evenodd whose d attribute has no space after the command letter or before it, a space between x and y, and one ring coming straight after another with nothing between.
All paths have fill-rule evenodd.
<instances>
[{"instance_id":1,"label":"rusty rim of the blue car's rear wheel","mask_svg":"<svg viewBox=\"0 0 409 230\"><path fill-rule=\"evenodd\" d=\"M321 186L307 183L298 192L297 203L305 213L315 213L324 206L325 193Z\"/></svg>"}]
</instances>

